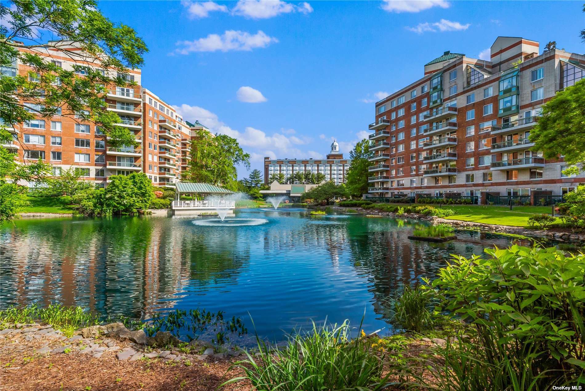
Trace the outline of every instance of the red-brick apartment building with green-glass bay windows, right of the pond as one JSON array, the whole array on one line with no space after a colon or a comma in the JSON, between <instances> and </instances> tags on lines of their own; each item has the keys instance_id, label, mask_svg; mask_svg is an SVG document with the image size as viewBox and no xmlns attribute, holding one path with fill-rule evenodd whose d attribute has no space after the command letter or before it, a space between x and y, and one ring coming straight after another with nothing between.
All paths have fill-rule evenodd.
<instances>
[{"instance_id":1,"label":"red-brick apartment building with green-glass bay windows, right of the pond","mask_svg":"<svg viewBox=\"0 0 585 391\"><path fill-rule=\"evenodd\" d=\"M585 182L528 140L542 104L585 77L585 56L539 55L538 42L498 37L490 57L445 52L421 79L376 103L370 195L560 195Z\"/></svg>"}]
</instances>

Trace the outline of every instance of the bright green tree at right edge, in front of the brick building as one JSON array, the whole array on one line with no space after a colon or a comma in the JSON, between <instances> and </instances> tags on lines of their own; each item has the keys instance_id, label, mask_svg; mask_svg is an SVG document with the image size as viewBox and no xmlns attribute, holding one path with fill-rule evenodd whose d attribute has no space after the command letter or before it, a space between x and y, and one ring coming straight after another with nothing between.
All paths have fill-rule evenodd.
<instances>
[{"instance_id":1,"label":"bright green tree at right edge, in front of the brick building","mask_svg":"<svg viewBox=\"0 0 585 391\"><path fill-rule=\"evenodd\" d=\"M585 163L585 79L559 91L542 105L542 114L530 132L535 151L547 159L559 156L569 165ZM567 174L576 174L574 166Z\"/></svg>"}]
</instances>

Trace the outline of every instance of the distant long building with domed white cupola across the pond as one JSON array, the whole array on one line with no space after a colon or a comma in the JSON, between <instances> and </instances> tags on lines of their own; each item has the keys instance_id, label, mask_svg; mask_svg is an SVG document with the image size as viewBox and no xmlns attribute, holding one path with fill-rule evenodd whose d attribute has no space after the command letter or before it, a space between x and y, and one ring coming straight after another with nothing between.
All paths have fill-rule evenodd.
<instances>
[{"instance_id":1,"label":"distant long building with domed white cupola across the pond","mask_svg":"<svg viewBox=\"0 0 585 391\"><path fill-rule=\"evenodd\" d=\"M331 151L325 159L271 159L264 158L264 183L270 184L270 177L273 174L284 174L288 178L297 172L312 172L313 174L321 173L325 175L325 181L333 181L336 185L345 183L347 171L351 164L351 159L343 159L343 154L339 151L339 144L336 140L331 143Z\"/></svg>"}]
</instances>

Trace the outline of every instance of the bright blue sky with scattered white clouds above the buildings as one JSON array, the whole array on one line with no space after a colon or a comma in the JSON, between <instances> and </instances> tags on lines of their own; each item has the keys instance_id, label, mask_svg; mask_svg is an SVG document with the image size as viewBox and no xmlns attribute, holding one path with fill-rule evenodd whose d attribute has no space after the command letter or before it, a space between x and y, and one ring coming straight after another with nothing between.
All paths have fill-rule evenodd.
<instances>
[{"instance_id":1,"label":"bright blue sky with scattered white clouds above the buildings","mask_svg":"<svg viewBox=\"0 0 585 391\"><path fill-rule=\"evenodd\" d=\"M150 52L143 85L252 155L321 158L369 133L374 102L445 50L486 55L498 35L585 52L579 1L101 1ZM482 54L482 52L484 52ZM487 50L489 53L489 50ZM487 54L488 55L488 54ZM486 57L488 58L488 57ZM239 169L240 176L247 176Z\"/></svg>"}]
</instances>

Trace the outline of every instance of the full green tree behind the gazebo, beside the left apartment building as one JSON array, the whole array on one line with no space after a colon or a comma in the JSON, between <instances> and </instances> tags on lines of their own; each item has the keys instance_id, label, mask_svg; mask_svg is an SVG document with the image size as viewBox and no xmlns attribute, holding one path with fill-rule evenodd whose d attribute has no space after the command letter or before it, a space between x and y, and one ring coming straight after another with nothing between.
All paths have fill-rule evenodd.
<instances>
[{"instance_id":1,"label":"full green tree behind the gazebo, beside the left apartment building","mask_svg":"<svg viewBox=\"0 0 585 391\"><path fill-rule=\"evenodd\" d=\"M184 178L237 190L236 165L239 164L250 168L250 154L240 148L238 140L225 134L214 135L207 130L198 130L191 140L191 161Z\"/></svg>"}]
</instances>

